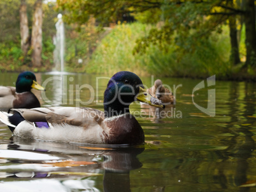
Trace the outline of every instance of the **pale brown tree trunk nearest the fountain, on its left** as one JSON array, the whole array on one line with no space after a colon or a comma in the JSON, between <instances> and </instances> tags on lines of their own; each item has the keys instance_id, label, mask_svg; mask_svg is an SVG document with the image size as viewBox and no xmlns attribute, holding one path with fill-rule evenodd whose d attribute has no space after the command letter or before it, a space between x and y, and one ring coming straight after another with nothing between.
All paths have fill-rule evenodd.
<instances>
[{"instance_id":1,"label":"pale brown tree trunk nearest the fountain, on its left","mask_svg":"<svg viewBox=\"0 0 256 192\"><path fill-rule=\"evenodd\" d=\"M34 67L41 66L42 24L43 24L42 0L37 0L36 3L34 4L32 36L31 36L32 64Z\"/></svg>"}]
</instances>

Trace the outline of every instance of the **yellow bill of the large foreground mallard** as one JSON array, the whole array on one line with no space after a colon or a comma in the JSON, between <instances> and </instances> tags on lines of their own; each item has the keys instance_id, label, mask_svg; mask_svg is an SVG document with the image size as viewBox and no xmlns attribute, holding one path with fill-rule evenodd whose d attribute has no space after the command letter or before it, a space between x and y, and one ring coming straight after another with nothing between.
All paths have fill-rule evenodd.
<instances>
[{"instance_id":1,"label":"yellow bill of the large foreground mallard","mask_svg":"<svg viewBox=\"0 0 256 192\"><path fill-rule=\"evenodd\" d=\"M140 102L149 104L150 106L161 108L165 107L159 99L152 97L152 95L150 95L150 93L147 93L145 88L142 88L141 86L139 86L139 94L137 95L136 99Z\"/></svg>"}]
</instances>

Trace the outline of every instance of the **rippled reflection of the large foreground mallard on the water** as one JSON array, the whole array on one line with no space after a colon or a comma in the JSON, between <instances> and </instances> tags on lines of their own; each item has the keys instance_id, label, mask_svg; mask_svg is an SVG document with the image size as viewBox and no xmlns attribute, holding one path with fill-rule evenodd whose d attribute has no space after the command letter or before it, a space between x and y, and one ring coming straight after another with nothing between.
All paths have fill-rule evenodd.
<instances>
[{"instance_id":1,"label":"rippled reflection of the large foreground mallard on the water","mask_svg":"<svg viewBox=\"0 0 256 192\"><path fill-rule=\"evenodd\" d=\"M63 150L64 146L66 146L65 150ZM90 184L86 186L97 191L96 183L85 178L99 176L101 170L104 170L104 191L131 191L129 173L130 170L142 167L137 155L143 151L144 146L87 146L28 141L13 137L11 144L1 145L0 158L5 160L1 163L9 165L0 166L0 177L5 178L3 181L6 179L8 181L10 178L72 179L80 177L83 186L89 181ZM17 183L17 185L20 184ZM37 186L35 188L37 189Z\"/></svg>"}]
</instances>

